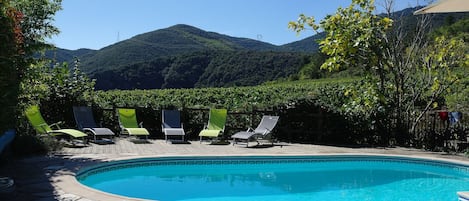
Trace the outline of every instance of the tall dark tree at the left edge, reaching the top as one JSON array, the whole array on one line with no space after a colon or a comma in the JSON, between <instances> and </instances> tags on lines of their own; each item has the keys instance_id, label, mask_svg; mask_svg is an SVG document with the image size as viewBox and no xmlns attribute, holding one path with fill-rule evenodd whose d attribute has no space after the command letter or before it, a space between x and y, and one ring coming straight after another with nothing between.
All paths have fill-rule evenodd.
<instances>
[{"instance_id":1,"label":"tall dark tree at the left edge, reaching the top","mask_svg":"<svg viewBox=\"0 0 469 201\"><path fill-rule=\"evenodd\" d=\"M0 0L0 133L14 128L20 83L31 66L41 64L33 57L49 47L45 38L58 33L52 25L61 0Z\"/></svg>"}]
</instances>

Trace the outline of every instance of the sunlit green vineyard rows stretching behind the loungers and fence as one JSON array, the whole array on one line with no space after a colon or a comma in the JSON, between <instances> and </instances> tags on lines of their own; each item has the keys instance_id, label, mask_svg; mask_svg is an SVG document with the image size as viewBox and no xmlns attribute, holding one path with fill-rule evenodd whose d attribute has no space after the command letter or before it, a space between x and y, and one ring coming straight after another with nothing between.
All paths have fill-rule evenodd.
<instances>
[{"instance_id":1,"label":"sunlit green vineyard rows stretching behind the loungers and fence","mask_svg":"<svg viewBox=\"0 0 469 201\"><path fill-rule=\"evenodd\" d=\"M353 79L321 79L271 83L254 87L98 91L92 102L100 108L143 107L211 108L249 112L313 99L324 86L343 85Z\"/></svg>"}]
</instances>

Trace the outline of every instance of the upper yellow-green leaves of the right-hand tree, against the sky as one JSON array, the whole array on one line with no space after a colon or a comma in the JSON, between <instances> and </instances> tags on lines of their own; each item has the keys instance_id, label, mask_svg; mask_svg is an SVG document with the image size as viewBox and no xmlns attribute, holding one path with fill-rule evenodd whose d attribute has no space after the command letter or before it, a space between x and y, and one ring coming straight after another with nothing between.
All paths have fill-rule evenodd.
<instances>
[{"instance_id":1,"label":"upper yellow-green leaves of the right-hand tree, against the sky","mask_svg":"<svg viewBox=\"0 0 469 201\"><path fill-rule=\"evenodd\" d=\"M362 66L367 70L379 70L383 36L391 27L392 20L373 14L374 1L353 1L347 8L338 8L335 15L330 15L320 25L312 17L301 16L299 23L307 23L315 30L324 29L326 37L320 42L321 52L329 55L322 69L339 70L350 66ZM296 31L295 23L290 23Z\"/></svg>"}]
</instances>

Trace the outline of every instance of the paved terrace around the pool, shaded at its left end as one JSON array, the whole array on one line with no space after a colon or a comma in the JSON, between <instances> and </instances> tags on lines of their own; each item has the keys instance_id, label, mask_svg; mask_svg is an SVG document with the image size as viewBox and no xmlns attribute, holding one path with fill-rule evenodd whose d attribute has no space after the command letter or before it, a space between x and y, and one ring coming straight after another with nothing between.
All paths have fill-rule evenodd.
<instances>
[{"instance_id":1,"label":"paved terrace around the pool, shaded at its left end","mask_svg":"<svg viewBox=\"0 0 469 201\"><path fill-rule=\"evenodd\" d=\"M0 200L16 201L98 201L133 200L100 193L79 184L74 175L81 167L121 159L158 156L250 156L250 155L327 155L327 154L386 154L438 158L469 164L463 155L426 152L410 148L346 148L306 144L246 148L242 145L171 144L164 140L149 140L138 144L120 138L115 144L91 144L83 148L64 148L50 156L11 159L0 162L0 176L14 179L12 192L0 192ZM456 194L455 194L456 198Z\"/></svg>"}]
</instances>

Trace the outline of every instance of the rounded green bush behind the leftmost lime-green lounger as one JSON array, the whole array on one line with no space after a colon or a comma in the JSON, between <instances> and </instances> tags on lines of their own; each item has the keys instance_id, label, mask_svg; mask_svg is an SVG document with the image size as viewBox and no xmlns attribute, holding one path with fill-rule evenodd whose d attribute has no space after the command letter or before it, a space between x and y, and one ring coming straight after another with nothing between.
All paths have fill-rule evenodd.
<instances>
[{"instance_id":1,"label":"rounded green bush behind the leftmost lime-green lounger","mask_svg":"<svg viewBox=\"0 0 469 201\"><path fill-rule=\"evenodd\" d=\"M52 66L52 67L51 67ZM79 61L70 68L67 63L51 65L50 60L38 60L26 69L26 74L20 83L17 133L14 147L28 146L28 149L15 151L18 154L43 153L60 149L60 142L51 136L36 135L23 111L29 105L40 105L43 116L49 123L61 122L61 117L72 115L71 108L84 105L91 101L95 81L91 80L79 69ZM70 121L67 127L74 127Z\"/></svg>"}]
</instances>

